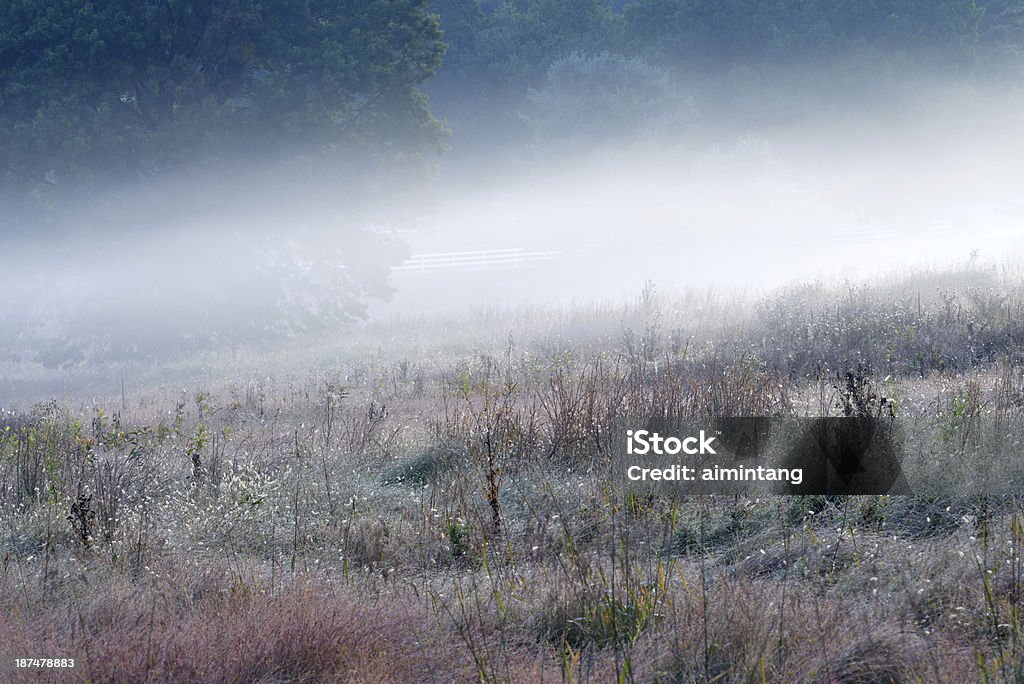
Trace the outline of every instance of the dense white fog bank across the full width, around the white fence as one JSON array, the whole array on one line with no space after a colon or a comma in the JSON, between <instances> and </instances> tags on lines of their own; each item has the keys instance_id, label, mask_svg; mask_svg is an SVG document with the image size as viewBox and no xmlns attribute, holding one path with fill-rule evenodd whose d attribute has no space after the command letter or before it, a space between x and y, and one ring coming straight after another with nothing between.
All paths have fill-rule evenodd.
<instances>
[{"instance_id":1,"label":"dense white fog bank across the full width, around the white fence","mask_svg":"<svg viewBox=\"0 0 1024 684\"><path fill-rule=\"evenodd\" d=\"M423 183L395 166L278 163L111 183L9 240L5 356L159 358L367 316L615 301L646 283L763 292L1006 263L1024 237L1019 104L949 86L763 125L702 110L679 131L518 152L456 135Z\"/></svg>"}]
</instances>

